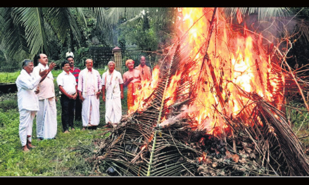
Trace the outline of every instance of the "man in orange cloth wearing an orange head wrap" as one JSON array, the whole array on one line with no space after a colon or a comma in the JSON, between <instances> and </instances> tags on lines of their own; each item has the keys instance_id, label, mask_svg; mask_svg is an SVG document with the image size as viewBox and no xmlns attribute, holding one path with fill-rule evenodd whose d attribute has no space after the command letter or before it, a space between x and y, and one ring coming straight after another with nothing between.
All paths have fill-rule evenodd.
<instances>
[{"instance_id":1,"label":"man in orange cloth wearing an orange head wrap","mask_svg":"<svg viewBox=\"0 0 309 185\"><path fill-rule=\"evenodd\" d=\"M124 86L128 86L128 94L127 94L127 103L128 103L128 110L130 107L134 105L135 101L135 92L141 85L141 75L140 71L134 69L134 61L129 59L126 61L126 66L129 69L123 75Z\"/></svg>"}]
</instances>

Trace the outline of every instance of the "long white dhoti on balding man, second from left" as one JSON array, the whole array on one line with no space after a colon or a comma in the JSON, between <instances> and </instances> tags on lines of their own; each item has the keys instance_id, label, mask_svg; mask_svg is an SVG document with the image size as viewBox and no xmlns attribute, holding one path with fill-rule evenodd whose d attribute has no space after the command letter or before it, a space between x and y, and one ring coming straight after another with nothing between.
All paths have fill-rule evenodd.
<instances>
[{"instance_id":1,"label":"long white dhoti on balding man, second from left","mask_svg":"<svg viewBox=\"0 0 309 185\"><path fill-rule=\"evenodd\" d=\"M36 113L36 136L53 139L57 134L57 108L54 97L39 100L40 110Z\"/></svg>"}]
</instances>

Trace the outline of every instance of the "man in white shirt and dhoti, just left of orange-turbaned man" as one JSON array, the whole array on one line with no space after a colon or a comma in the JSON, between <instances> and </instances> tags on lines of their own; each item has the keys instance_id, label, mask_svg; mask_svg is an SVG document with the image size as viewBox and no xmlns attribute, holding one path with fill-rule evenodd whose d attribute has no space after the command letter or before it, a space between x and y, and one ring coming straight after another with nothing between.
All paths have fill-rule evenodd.
<instances>
[{"instance_id":1,"label":"man in white shirt and dhoti, just left of orange-turbaned man","mask_svg":"<svg viewBox=\"0 0 309 185\"><path fill-rule=\"evenodd\" d=\"M121 99L124 98L121 73L115 70L115 62L108 63L108 71L102 75L102 99L105 101L105 122L117 126L121 120ZM106 91L106 96L105 96Z\"/></svg>"}]
</instances>

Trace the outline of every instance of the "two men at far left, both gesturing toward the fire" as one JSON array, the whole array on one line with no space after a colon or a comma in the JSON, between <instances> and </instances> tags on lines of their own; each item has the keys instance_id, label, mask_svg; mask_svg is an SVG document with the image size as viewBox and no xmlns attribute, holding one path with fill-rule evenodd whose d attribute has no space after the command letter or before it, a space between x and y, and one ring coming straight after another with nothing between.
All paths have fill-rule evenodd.
<instances>
[{"instance_id":1,"label":"two men at far left, both gesturing toward the fire","mask_svg":"<svg viewBox=\"0 0 309 185\"><path fill-rule=\"evenodd\" d=\"M33 148L31 144L32 124L36 115L38 140L52 139L57 133L57 109L51 70L55 63L48 64L45 54L38 57L34 67L31 60L22 62L22 70L16 79L19 110L19 138L23 151Z\"/></svg>"}]
</instances>

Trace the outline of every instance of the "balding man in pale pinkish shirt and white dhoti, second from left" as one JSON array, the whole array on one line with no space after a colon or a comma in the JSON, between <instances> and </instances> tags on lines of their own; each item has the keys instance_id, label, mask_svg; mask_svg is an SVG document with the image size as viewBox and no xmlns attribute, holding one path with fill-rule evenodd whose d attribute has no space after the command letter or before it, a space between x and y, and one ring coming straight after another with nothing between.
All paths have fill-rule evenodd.
<instances>
[{"instance_id":1,"label":"balding man in pale pinkish shirt and white dhoti, second from left","mask_svg":"<svg viewBox=\"0 0 309 185\"><path fill-rule=\"evenodd\" d=\"M55 100L54 78L51 70L56 66L50 63L45 54L39 54L38 65L33 68L33 75L38 76L40 71L48 70L44 81L38 85L39 110L36 113L36 137L38 140L53 139L57 134L57 108Z\"/></svg>"}]
</instances>

